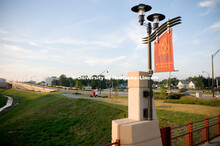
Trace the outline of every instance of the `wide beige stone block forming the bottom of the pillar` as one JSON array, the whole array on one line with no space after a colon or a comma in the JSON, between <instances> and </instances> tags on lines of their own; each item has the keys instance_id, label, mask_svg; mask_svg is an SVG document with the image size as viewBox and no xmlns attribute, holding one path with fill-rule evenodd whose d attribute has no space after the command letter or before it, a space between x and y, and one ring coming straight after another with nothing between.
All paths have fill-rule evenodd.
<instances>
[{"instance_id":1,"label":"wide beige stone block forming the bottom of the pillar","mask_svg":"<svg viewBox=\"0 0 220 146\"><path fill-rule=\"evenodd\" d=\"M121 146L162 146L157 120L134 121L119 119L112 121L112 141L120 140Z\"/></svg>"}]
</instances>

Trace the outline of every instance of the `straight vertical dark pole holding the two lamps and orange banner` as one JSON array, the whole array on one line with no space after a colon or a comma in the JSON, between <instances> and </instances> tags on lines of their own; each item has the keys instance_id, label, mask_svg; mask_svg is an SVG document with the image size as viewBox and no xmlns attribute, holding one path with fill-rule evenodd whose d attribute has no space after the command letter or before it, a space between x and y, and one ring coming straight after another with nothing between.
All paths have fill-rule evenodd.
<instances>
[{"instance_id":1,"label":"straight vertical dark pole holding the two lamps and orange banner","mask_svg":"<svg viewBox=\"0 0 220 146\"><path fill-rule=\"evenodd\" d=\"M148 98L148 120L152 120L152 98L153 98L153 91L151 85L151 76L153 74L152 71L152 63L151 63L151 41L150 41L150 34L151 34L151 23L147 24L147 34L148 34L148 74L149 74L149 84L148 89L150 92L150 97Z\"/></svg>"}]
</instances>

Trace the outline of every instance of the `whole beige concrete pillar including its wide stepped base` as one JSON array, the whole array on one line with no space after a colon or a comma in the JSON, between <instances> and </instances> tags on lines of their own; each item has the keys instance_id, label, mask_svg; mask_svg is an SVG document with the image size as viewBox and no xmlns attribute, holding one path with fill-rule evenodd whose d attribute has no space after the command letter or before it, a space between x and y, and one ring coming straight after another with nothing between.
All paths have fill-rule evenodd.
<instances>
[{"instance_id":1,"label":"whole beige concrete pillar including its wide stepped base","mask_svg":"<svg viewBox=\"0 0 220 146\"><path fill-rule=\"evenodd\" d=\"M112 141L119 139L121 146L162 146L154 102L152 121L143 112L148 105L143 95L148 88L148 73L130 72L128 78L128 118L112 121Z\"/></svg>"}]
</instances>

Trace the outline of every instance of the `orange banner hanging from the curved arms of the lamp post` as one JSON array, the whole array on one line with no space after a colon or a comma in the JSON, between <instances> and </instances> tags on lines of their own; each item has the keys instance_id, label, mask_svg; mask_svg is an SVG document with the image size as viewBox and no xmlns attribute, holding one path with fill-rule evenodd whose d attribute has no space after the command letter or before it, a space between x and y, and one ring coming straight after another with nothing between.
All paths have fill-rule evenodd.
<instances>
[{"instance_id":1,"label":"orange banner hanging from the curved arms of the lamp post","mask_svg":"<svg viewBox=\"0 0 220 146\"><path fill-rule=\"evenodd\" d=\"M154 72L174 71L172 29L166 31L154 42Z\"/></svg>"}]
</instances>

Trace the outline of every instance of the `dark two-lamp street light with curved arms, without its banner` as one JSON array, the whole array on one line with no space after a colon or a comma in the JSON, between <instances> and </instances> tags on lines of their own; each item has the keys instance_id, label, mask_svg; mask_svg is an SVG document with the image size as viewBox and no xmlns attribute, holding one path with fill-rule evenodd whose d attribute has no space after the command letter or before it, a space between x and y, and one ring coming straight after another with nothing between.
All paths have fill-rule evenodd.
<instances>
[{"instance_id":1,"label":"dark two-lamp street light with curved arms, without its banner","mask_svg":"<svg viewBox=\"0 0 220 146\"><path fill-rule=\"evenodd\" d=\"M152 70L152 58L151 58L151 42L157 39L162 33L164 33L166 30L168 30L170 27L173 27L174 25L180 24L181 17L175 17L171 20L167 20L164 24L162 24L159 27L159 21L162 21L165 19L165 16L163 14L158 14L154 13L151 14L147 17L147 19L151 22L153 22L153 30L154 32L151 33L152 27L151 23L148 22L147 24L144 23L144 17L145 17L145 12L151 10L151 6L145 5L145 4L139 4L137 6L134 6L131 8L133 12L139 13L138 16L138 22L140 25L146 26L147 27L147 37L143 38L143 43L148 44L148 109L147 109L147 119L152 120L153 115L152 115L152 100L153 100L153 90L152 90L152 81L151 77L153 75L153 70Z\"/></svg>"}]
</instances>

